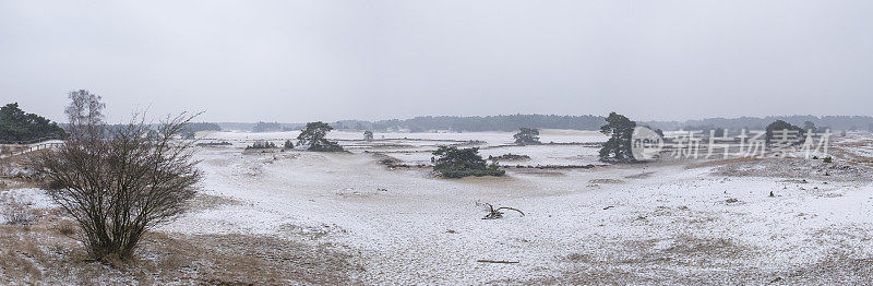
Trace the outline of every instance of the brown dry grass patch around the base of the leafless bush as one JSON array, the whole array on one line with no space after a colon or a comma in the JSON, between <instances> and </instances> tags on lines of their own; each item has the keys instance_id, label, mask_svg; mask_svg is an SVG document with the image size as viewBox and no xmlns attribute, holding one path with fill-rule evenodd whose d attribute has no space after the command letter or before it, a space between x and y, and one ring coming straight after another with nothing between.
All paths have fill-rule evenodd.
<instances>
[{"instance_id":1,"label":"brown dry grass patch around the base of the leafless bush","mask_svg":"<svg viewBox=\"0 0 873 286\"><path fill-rule=\"evenodd\" d=\"M137 255L97 262L64 234L60 212L37 211L35 225L0 225L2 285L348 285L362 271L330 246L247 235L146 233Z\"/></svg>"}]
</instances>

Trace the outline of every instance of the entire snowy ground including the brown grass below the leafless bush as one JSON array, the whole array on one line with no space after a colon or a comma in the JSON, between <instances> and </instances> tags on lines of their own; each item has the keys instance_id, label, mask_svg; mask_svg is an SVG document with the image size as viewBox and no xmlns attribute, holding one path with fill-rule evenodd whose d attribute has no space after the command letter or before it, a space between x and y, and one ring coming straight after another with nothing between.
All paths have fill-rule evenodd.
<instances>
[{"instance_id":1,"label":"entire snowy ground including the brown grass below the leafless bush","mask_svg":"<svg viewBox=\"0 0 873 286\"><path fill-rule=\"evenodd\" d=\"M833 163L618 165L597 160L607 138L594 131L542 130L547 144L527 146L509 132L360 134L332 132L350 152L315 153L244 150L297 132L200 132L231 145L199 147L205 177L191 210L148 233L130 267L87 261L44 191L3 179L0 200L36 223L0 226L0 284L794 285L873 275L868 132L835 136ZM504 177L434 177L430 151L453 144L530 158L501 162ZM524 215L481 219L486 204Z\"/></svg>"}]
</instances>

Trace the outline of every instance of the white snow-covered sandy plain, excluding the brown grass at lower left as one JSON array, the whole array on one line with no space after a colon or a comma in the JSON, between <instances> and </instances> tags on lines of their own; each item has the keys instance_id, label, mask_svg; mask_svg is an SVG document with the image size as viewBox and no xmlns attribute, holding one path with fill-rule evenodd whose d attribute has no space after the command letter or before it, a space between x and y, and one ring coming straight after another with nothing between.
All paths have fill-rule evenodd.
<instances>
[{"instance_id":1,"label":"white snow-covered sandy plain, excluding the brown grass at lower left","mask_svg":"<svg viewBox=\"0 0 873 286\"><path fill-rule=\"evenodd\" d=\"M483 146L512 141L502 132L384 135L479 140ZM208 136L244 144L296 133ZM605 139L577 131L547 131L542 138ZM738 177L716 172L718 164L672 162L510 169L502 178L452 180L434 178L428 168L392 170L360 151L243 153L239 146L205 147L198 155L203 192L232 203L186 214L162 230L331 245L356 253L366 267L359 278L368 284L869 282L864 275L873 269L869 176L804 180L804 170L797 170ZM595 162L596 155L581 145L505 151L530 155L536 164ZM516 207L525 216L485 221L483 203Z\"/></svg>"}]
</instances>

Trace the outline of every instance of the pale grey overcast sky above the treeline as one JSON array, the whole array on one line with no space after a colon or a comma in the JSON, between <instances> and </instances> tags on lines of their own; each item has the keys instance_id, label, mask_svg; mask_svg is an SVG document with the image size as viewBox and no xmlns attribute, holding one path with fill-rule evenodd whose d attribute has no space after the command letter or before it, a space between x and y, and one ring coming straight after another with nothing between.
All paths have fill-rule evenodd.
<instances>
[{"instance_id":1,"label":"pale grey overcast sky above the treeline","mask_svg":"<svg viewBox=\"0 0 873 286\"><path fill-rule=\"evenodd\" d=\"M10 1L0 95L206 121L873 115L873 1Z\"/></svg>"}]
</instances>

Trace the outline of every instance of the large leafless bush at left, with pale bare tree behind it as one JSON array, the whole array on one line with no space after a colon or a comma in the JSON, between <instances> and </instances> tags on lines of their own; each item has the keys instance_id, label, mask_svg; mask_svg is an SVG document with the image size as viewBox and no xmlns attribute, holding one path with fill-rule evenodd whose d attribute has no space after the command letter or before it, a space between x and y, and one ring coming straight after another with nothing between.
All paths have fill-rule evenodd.
<instances>
[{"instance_id":1,"label":"large leafless bush at left, with pale bare tree behind it","mask_svg":"<svg viewBox=\"0 0 873 286\"><path fill-rule=\"evenodd\" d=\"M128 259L145 230L182 213L196 192L194 142L177 139L193 117L168 118L155 131L135 116L107 129L98 96L70 98L65 143L31 165L52 182L48 194L79 224L94 259Z\"/></svg>"}]
</instances>

